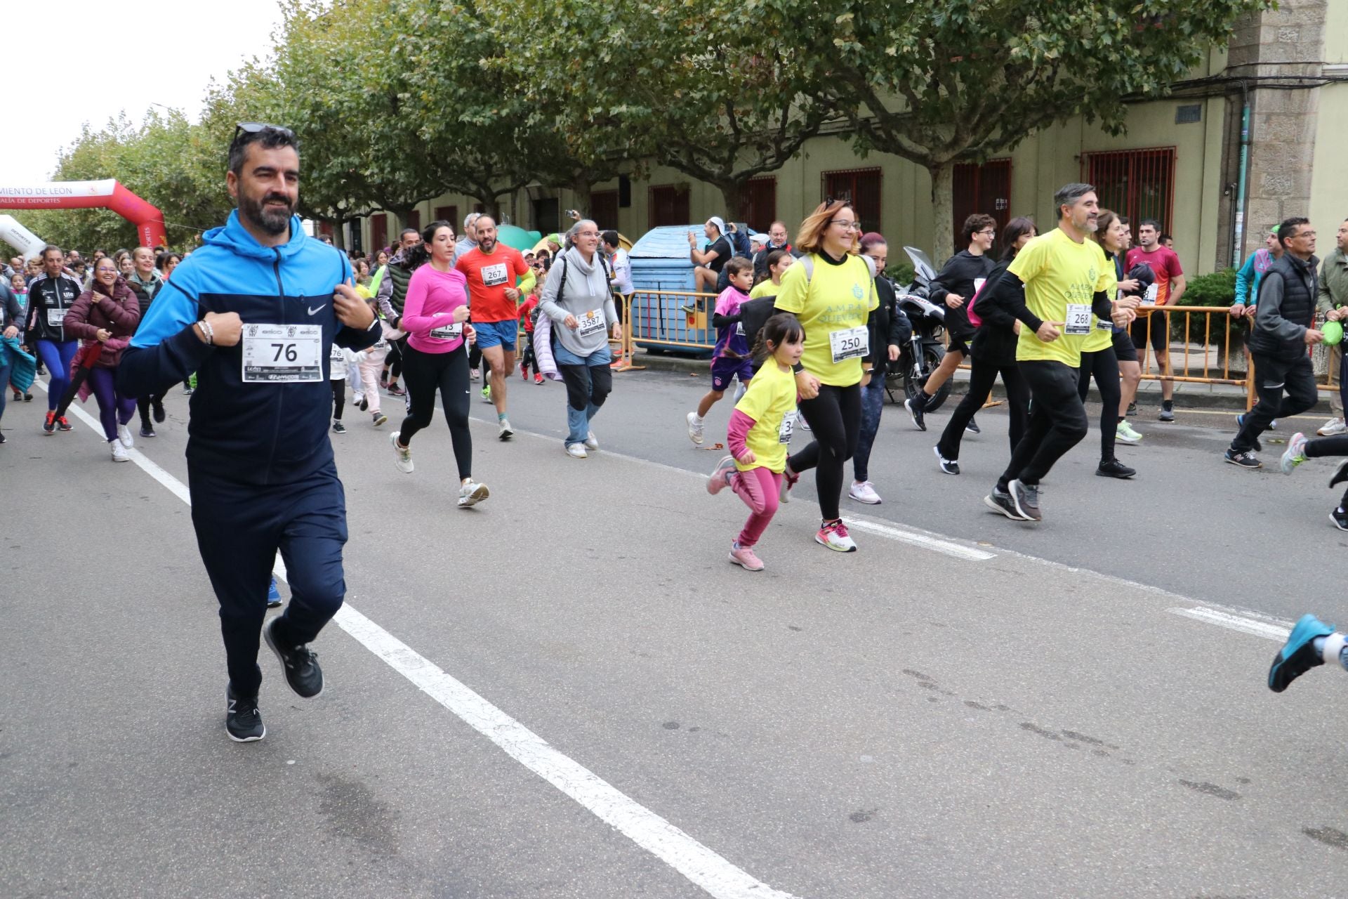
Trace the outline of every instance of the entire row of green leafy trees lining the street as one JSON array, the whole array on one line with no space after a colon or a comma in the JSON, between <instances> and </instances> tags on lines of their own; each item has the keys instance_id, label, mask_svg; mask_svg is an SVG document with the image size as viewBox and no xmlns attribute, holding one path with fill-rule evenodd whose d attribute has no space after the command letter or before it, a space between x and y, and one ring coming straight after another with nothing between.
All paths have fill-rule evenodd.
<instances>
[{"instance_id":1,"label":"entire row of green leafy trees lining the street","mask_svg":"<svg viewBox=\"0 0 1348 899\"><path fill-rule=\"evenodd\" d=\"M523 186L590 187L650 164L748 179L822 129L931 174L936 256L950 255L957 162L1010 152L1082 115L1123 128L1124 97L1185 77L1273 0L286 0L274 53L208 93L202 121L150 115L85 129L58 178L116 177L164 210L170 240L218 224L241 120L301 137L301 209L406 218L445 191L496 212ZM35 212L39 235L129 244L102 212Z\"/></svg>"}]
</instances>

